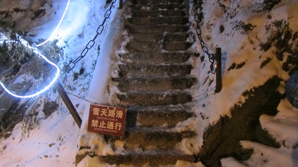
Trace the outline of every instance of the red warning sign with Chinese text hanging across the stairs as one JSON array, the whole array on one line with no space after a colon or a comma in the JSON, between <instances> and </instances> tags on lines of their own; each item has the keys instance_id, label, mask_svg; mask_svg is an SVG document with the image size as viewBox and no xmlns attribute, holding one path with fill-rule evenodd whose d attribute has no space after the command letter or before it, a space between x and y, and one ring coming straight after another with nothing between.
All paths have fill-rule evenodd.
<instances>
[{"instance_id":1,"label":"red warning sign with Chinese text hanging across the stairs","mask_svg":"<svg viewBox=\"0 0 298 167\"><path fill-rule=\"evenodd\" d=\"M126 108L90 104L88 132L124 136Z\"/></svg>"}]
</instances>

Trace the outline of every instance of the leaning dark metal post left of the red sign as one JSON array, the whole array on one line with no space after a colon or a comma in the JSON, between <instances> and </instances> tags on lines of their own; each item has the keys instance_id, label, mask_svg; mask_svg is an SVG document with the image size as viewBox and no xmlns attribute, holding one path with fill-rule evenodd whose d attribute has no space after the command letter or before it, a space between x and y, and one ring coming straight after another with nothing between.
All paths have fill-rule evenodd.
<instances>
[{"instance_id":1,"label":"leaning dark metal post left of the red sign","mask_svg":"<svg viewBox=\"0 0 298 167\"><path fill-rule=\"evenodd\" d=\"M55 87L56 87L56 90L59 93L60 97L62 98L64 104L66 105L67 109L69 110L70 114L72 114L72 117L74 118L75 122L77 123L77 126L79 126L79 128L81 128L82 119L80 118L79 114L77 113L77 110L75 109L74 105L72 104L72 101L70 101L69 97L67 96L67 94L59 80L56 81Z\"/></svg>"}]
</instances>

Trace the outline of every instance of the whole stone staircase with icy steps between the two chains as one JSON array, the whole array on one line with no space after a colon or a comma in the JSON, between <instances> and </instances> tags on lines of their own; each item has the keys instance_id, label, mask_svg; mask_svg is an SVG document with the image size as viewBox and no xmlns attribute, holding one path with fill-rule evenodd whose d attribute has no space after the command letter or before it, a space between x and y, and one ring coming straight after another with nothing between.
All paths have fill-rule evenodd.
<instances>
[{"instance_id":1,"label":"whole stone staircase with icy steps between the two chains","mask_svg":"<svg viewBox=\"0 0 298 167\"><path fill-rule=\"evenodd\" d=\"M118 166L195 162L194 155L175 147L195 132L174 130L178 122L193 116L190 88L197 82L187 62L192 55L187 51L192 45L187 42L188 10L183 0L135 0L130 10L132 17L125 28L132 39L126 46L128 53L119 55L123 58L119 77L112 80L121 91L117 97L131 107L125 136L104 136L111 146L122 142L124 149L99 158Z\"/></svg>"}]
</instances>

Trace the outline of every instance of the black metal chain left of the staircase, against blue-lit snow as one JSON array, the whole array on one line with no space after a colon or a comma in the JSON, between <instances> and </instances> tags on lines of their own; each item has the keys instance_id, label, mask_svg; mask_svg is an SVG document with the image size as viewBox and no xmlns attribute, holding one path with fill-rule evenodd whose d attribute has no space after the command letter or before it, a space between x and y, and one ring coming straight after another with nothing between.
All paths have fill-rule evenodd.
<instances>
[{"instance_id":1,"label":"black metal chain left of the staircase, against blue-lit snow","mask_svg":"<svg viewBox=\"0 0 298 167\"><path fill-rule=\"evenodd\" d=\"M96 30L96 35L94 36L94 38L92 40L90 40L88 42L88 44L86 45L86 47L83 49L83 51L81 52L81 55L79 57L77 57L77 59L70 61L64 68L63 70L61 70L62 74L65 73L69 73L73 68L75 68L75 64L77 62L79 62L83 57L86 56L86 54L88 53L88 51L92 48L92 46L95 43L95 39L97 38L98 35L100 35L103 32L103 26L105 24L105 21L110 17L111 13L112 13L112 8L114 8L114 3L116 2L116 0L112 0L111 1L111 5L109 7L109 9L105 12L105 18L103 19L103 22L100 24L100 26L97 28ZM71 64L73 64L73 66L71 67Z\"/></svg>"}]
</instances>

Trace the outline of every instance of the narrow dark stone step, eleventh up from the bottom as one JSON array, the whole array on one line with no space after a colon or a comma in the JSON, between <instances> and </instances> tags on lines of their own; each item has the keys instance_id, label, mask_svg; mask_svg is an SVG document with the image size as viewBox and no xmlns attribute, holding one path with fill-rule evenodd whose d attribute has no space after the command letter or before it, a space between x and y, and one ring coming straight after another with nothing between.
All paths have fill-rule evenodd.
<instances>
[{"instance_id":1,"label":"narrow dark stone step, eleventh up from the bottom","mask_svg":"<svg viewBox=\"0 0 298 167\"><path fill-rule=\"evenodd\" d=\"M136 25L159 25L159 24L170 24L170 25L184 25L188 23L187 17L172 16L172 17L149 17L149 18L128 18L129 23Z\"/></svg>"}]
</instances>

